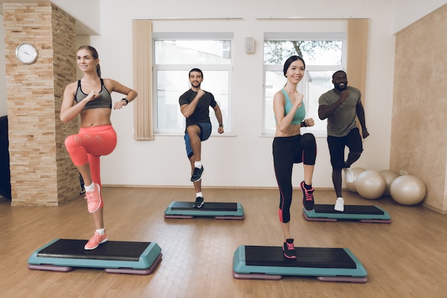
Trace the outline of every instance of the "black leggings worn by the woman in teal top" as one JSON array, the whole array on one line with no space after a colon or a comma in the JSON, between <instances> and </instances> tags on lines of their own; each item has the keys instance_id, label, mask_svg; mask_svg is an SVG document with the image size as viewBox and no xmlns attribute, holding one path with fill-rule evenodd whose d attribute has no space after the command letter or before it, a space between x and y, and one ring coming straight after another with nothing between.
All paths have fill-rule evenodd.
<instances>
[{"instance_id":1,"label":"black leggings worn by the woman in teal top","mask_svg":"<svg viewBox=\"0 0 447 298\"><path fill-rule=\"evenodd\" d=\"M290 221L292 203L292 169L294 163L315 165L316 140L313 134L273 139L273 165L279 187L279 220Z\"/></svg>"}]
</instances>

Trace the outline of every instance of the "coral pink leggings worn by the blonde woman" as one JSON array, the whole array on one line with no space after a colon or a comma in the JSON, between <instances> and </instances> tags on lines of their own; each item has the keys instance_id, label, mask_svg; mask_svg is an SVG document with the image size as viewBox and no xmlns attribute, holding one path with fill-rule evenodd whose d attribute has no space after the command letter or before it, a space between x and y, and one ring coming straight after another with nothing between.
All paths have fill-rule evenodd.
<instances>
[{"instance_id":1,"label":"coral pink leggings worn by the blonde woman","mask_svg":"<svg viewBox=\"0 0 447 298\"><path fill-rule=\"evenodd\" d=\"M115 149L116 132L112 125L80 128L77 135L65 139L65 147L74 165L90 164L91 179L101 186L99 157Z\"/></svg>"}]
</instances>

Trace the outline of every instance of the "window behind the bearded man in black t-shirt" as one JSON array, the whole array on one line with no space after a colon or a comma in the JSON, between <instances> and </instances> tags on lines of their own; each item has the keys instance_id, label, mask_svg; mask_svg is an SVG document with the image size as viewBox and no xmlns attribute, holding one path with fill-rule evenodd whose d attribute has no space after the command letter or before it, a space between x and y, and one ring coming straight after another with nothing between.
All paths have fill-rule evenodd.
<instances>
[{"instance_id":1,"label":"window behind the bearded man in black t-shirt","mask_svg":"<svg viewBox=\"0 0 447 298\"><path fill-rule=\"evenodd\" d=\"M213 36L210 38L209 36ZM204 73L201 88L213 93L225 130L231 131L232 34L154 34L154 133L183 134L185 117L179 97L191 88L192 68ZM210 107L213 132L219 128Z\"/></svg>"}]
</instances>

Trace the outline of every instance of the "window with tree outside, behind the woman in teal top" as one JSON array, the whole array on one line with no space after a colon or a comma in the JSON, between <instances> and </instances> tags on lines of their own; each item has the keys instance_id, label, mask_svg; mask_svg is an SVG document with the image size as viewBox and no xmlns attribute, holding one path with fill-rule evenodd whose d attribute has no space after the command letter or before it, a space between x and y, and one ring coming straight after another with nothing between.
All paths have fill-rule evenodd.
<instances>
[{"instance_id":1,"label":"window with tree outside, behind the woman in teal top","mask_svg":"<svg viewBox=\"0 0 447 298\"><path fill-rule=\"evenodd\" d=\"M315 125L306 128L316 136L326 136L326 120L318 118L318 98L333 88L332 74L345 69L346 34L265 34L264 35L264 101L263 135L275 133L273 96L283 88L284 61L298 55L306 62L306 74L298 84L304 95L306 118L313 118Z\"/></svg>"}]
</instances>

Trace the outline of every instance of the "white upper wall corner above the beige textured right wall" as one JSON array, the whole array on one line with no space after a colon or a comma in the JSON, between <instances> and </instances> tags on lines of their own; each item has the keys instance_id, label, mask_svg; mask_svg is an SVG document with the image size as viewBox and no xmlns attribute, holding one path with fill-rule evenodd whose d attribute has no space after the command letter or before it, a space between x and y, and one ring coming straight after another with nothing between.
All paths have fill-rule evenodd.
<instances>
[{"instance_id":1,"label":"white upper wall corner above the beige textured right wall","mask_svg":"<svg viewBox=\"0 0 447 298\"><path fill-rule=\"evenodd\" d=\"M446 3L446 0L393 0L393 34Z\"/></svg>"}]
</instances>

